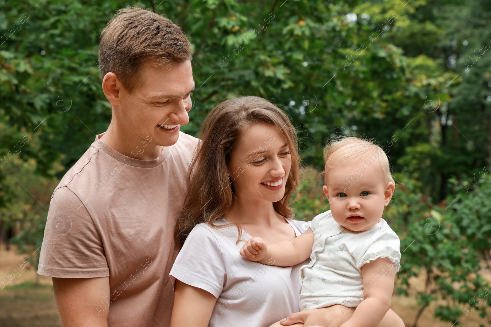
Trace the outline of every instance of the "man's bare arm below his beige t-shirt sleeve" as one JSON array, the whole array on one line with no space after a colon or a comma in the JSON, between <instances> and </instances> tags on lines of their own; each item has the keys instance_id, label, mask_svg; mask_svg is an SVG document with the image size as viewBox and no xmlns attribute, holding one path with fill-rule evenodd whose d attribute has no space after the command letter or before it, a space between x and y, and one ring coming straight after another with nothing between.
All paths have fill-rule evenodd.
<instances>
[{"instance_id":1,"label":"man's bare arm below his beige t-shirt sleeve","mask_svg":"<svg viewBox=\"0 0 491 327\"><path fill-rule=\"evenodd\" d=\"M109 277L53 277L53 289L61 326L108 327Z\"/></svg>"}]
</instances>

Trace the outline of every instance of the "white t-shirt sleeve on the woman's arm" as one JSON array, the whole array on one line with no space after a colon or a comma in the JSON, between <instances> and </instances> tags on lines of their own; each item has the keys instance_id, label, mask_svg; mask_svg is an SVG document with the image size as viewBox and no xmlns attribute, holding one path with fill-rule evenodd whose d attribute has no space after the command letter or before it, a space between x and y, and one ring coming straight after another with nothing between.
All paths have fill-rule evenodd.
<instances>
[{"instance_id":1,"label":"white t-shirt sleeve on the woman's arm","mask_svg":"<svg viewBox=\"0 0 491 327\"><path fill-rule=\"evenodd\" d=\"M172 283L179 279L213 294L218 299L226 276L217 238L206 226L195 226L170 270Z\"/></svg>"}]
</instances>

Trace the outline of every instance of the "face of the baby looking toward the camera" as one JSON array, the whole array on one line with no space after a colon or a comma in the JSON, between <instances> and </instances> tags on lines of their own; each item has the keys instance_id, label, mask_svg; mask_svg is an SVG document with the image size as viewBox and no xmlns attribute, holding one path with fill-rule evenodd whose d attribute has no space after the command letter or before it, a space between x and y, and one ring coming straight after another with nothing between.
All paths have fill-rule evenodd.
<instances>
[{"instance_id":1,"label":"face of the baby looking toward the camera","mask_svg":"<svg viewBox=\"0 0 491 327\"><path fill-rule=\"evenodd\" d=\"M369 166L359 161L330 168L323 189L334 220L346 229L361 232L380 221L383 207L394 193L394 183L385 182L378 163Z\"/></svg>"}]
</instances>

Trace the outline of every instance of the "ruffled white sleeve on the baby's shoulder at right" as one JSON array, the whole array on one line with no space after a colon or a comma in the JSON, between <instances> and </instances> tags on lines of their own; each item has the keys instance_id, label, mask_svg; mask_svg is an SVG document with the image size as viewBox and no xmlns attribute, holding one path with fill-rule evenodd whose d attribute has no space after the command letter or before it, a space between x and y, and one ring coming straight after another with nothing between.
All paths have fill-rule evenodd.
<instances>
[{"instance_id":1,"label":"ruffled white sleeve on the baby's shoulder at right","mask_svg":"<svg viewBox=\"0 0 491 327\"><path fill-rule=\"evenodd\" d=\"M396 273L399 271L401 252L401 242L399 237L392 230L380 229L375 233L365 244L358 257L356 258L356 266L358 269L375 259L389 258L396 266Z\"/></svg>"}]
</instances>

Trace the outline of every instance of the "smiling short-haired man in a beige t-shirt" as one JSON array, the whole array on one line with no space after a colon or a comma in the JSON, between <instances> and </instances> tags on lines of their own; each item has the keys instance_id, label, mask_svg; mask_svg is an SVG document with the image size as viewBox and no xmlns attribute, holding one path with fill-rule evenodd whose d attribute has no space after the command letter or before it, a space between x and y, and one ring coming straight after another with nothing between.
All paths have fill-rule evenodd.
<instances>
[{"instance_id":1,"label":"smiling short-haired man in a beige t-shirt","mask_svg":"<svg viewBox=\"0 0 491 327\"><path fill-rule=\"evenodd\" d=\"M168 19L121 9L99 63L111 123L53 193L38 273L53 277L64 327L169 326L173 231L198 142L179 131L191 45Z\"/></svg>"}]
</instances>

